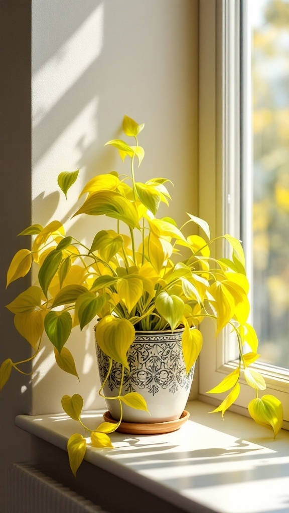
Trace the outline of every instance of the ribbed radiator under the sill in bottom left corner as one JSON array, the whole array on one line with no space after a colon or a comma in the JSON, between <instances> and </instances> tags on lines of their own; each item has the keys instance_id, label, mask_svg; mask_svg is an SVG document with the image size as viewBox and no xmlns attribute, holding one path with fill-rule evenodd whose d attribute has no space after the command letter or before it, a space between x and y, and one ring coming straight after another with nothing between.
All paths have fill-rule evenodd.
<instances>
[{"instance_id":1,"label":"ribbed radiator under the sill in bottom left corner","mask_svg":"<svg viewBox=\"0 0 289 513\"><path fill-rule=\"evenodd\" d=\"M9 467L7 506L7 513L105 513L26 463Z\"/></svg>"}]
</instances>

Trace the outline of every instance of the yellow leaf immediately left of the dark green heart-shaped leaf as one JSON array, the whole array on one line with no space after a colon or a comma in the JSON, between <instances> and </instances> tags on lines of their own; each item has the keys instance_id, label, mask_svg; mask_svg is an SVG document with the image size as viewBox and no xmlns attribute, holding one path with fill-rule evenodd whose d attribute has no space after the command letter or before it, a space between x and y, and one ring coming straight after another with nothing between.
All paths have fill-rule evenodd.
<instances>
[{"instance_id":1,"label":"yellow leaf immediately left of the dark green heart-shaped leaf","mask_svg":"<svg viewBox=\"0 0 289 513\"><path fill-rule=\"evenodd\" d=\"M16 313L14 317L15 328L24 337L33 349L44 330L45 310L33 310L30 313Z\"/></svg>"}]
</instances>

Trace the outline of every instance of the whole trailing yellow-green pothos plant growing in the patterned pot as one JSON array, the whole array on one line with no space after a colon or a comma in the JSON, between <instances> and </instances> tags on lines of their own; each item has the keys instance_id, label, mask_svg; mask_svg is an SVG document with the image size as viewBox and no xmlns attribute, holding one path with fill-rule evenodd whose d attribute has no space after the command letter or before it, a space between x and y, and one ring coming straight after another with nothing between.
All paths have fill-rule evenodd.
<instances>
[{"instance_id":1,"label":"whole trailing yellow-green pothos plant growing in the patterned pot","mask_svg":"<svg viewBox=\"0 0 289 513\"><path fill-rule=\"evenodd\" d=\"M202 348L202 334L198 326L205 318L211 319L218 334L229 325L236 334L239 347L239 366L210 393L229 392L214 411L222 415L237 399L241 376L256 391L256 399L249 403L250 415L256 422L272 426L274 437L282 424L282 406L273 396L258 398L258 390L265 390L262 375L251 370L255 362L258 339L254 328L247 323L249 284L245 259L239 240L230 235L223 238L232 248L232 259L216 259L210 248L208 224L195 215L178 228L169 217L157 218L160 203L171 200L166 178L152 178L146 183L136 180L135 163L140 166L145 151L138 145L138 135L144 124L138 125L124 116L123 131L134 144L121 140L106 143L116 148L122 161L129 159L131 174L116 171L99 174L83 188L83 205L74 215L106 215L114 221L111 230L101 230L86 247L73 235L65 234L59 221L43 227L29 226L20 235L33 235L31 249L18 251L8 269L7 286L24 277L31 265L39 267L38 283L19 294L7 305L14 314L14 324L31 344L32 360L38 353L45 331L54 346L58 366L78 377L74 358L65 346L73 327L82 330L99 319L96 336L100 348L109 357L129 369L127 351L133 343L135 330L174 330L184 328L182 346L186 370L189 372ZM65 196L75 183L79 170L63 172L58 184ZM136 172L137 175L137 172ZM183 234L187 224L197 225L201 235ZM182 260L182 250L188 257ZM243 353L244 343L250 352ZM27 360L26 360L27 361ZM24 362L7 359L0 368L0 389L9 379L10 372L19 372ZM106 379L108 378L108 375ZM105 380L106 381L106 380ZM104 381L104 383L105 383ZM100 395L103 396L103 386ZM112 399L112 398L110 398ZM147 409L145 400L137 392L114 398L132 408ZM112 447L108 433L118 424L101 423L88 429L81 420L83 399L78 394L62 398L64 411L90 432L95 447ZM84 457L85 437L76 433L68 441L68 455L74 474Z\"/></svg>"}]
</instances>

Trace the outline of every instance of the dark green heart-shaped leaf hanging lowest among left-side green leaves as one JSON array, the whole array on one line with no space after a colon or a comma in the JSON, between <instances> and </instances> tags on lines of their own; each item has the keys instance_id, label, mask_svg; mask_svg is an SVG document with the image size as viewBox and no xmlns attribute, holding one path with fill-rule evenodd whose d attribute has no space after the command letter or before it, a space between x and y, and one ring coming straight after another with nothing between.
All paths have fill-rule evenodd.
<instances>
[{"instance_id":1,"label":"dark green heart-shaped leaf hanging lowest among left-side green leaves","mask_svg":"<svg viewBox=\"0 0 289 513\"><path fill-rule=\"evenodd\" d=\"M60 353L70 335L72 328L72 319L70 313L67 311L48 312L44 319L44 327L48 339Z\"/></svg>"}]
</instances>

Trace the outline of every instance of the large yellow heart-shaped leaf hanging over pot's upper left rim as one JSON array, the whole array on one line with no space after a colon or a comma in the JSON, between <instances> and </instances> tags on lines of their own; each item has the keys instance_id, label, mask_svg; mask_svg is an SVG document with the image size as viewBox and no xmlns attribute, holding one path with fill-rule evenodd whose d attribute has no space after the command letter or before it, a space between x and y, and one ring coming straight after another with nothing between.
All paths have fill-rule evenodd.
<instances>
[{"instance_id":1,"label":"large yellow heart-shaped leaf hanging over pot's upper left rim","mask_svg":"<svg viewBox=\"0 0 289 513\"><path fill-rule=\"evenodd\" d=\"M127 319L106 315L95 330L96 341L110 358L129 369L127 352L135 338L135 329Z\"/></svg>"}]
</instances>

